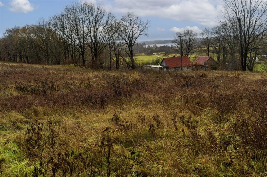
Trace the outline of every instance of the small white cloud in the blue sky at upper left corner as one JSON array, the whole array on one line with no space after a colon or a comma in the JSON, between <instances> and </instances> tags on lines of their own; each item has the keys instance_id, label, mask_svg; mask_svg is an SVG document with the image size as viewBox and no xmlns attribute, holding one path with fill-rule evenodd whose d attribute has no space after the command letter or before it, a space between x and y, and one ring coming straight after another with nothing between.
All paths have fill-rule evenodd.
<instances>
[{"instance_id":1,"label":"small white cloud in the blue sky at upper left corner","mask_svg":"<svg viewBox=\"0 0 267 177\"><path fill-rule=\"evenodd\" d=\"M28 13L35 9L34 5L28 0L12 0L9 10L17 13Z\"/></svg>"}]
</instances>

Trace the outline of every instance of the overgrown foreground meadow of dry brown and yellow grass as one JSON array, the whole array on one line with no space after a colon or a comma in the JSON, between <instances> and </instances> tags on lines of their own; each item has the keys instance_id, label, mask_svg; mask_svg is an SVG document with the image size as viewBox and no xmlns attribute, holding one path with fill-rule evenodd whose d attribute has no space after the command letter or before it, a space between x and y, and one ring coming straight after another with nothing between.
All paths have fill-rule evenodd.
<instances>
[{"instance_id":1,"label":"overgrown foreground meadow of dry brown and yellow grass","mask_svg":"<svg viewBox=\"0 0 267 177\"><path fill-rule=\"evenodd\" d=\"M1 176L266 176L267 73L0 63Z\"/></svg>"}]
</instances>

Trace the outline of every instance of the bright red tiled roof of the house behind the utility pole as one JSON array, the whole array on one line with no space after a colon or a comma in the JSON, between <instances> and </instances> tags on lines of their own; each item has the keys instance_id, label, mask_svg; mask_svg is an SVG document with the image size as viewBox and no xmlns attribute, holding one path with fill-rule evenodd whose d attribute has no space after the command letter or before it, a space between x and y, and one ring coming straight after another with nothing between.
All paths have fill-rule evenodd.
<instances>
[{"instance_id":1,"label":"bright red tiled roof of the house behind the utility pole","mask_svg":"<svg viewBox=\"0 0 267 177\"><path fill-rule=\"evenodd\" d=\"M181 57L169 57L163 58L162 61L163 60L169 68L181 67ZM182 64L183 67L192 66L192 62L189 60L188 56L182 56Z\"/></svg>"}]
</instances>

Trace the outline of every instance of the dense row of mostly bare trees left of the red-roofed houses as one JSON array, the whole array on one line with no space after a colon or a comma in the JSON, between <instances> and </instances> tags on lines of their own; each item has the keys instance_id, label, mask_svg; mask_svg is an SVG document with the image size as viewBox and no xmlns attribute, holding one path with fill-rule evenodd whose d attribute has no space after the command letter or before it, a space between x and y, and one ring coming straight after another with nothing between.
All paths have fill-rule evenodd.
<instances>
[{"instance_id":1,"label":"dense row of mostly bare trees left of the red-roofed houses","mask_svg":"<svg viewBox=\"0 0 267 177\"><path fill-rule=\"evenodd\" d=\"M133 13L118 20L101 6L71 3L47 21L7 29L0 39L0 60L102 69L115 63L116 69L135 69L134 45L148 35L148 24Z\"/></svg>"}]
</instances>

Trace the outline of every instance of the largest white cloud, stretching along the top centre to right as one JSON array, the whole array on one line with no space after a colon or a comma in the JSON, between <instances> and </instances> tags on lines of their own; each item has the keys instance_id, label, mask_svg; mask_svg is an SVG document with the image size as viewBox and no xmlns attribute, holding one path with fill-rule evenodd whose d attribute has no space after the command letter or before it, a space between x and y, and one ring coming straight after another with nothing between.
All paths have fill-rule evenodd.
<instances>
[{"instance_id":1,"label":"largest white cloud, stretching along the top centre to right","mask_svg":"<svg viewBox=\"0 0 267 177\"><path fill-rule=\"evenodd\" d=\"M219 0L98 0L107 10L125 14L134 12L139 16L157 16L174 19L181 22L196 22L203 26L212 27L218 24L217 17L222 9Z\"/></svg>"}]
</instances>

